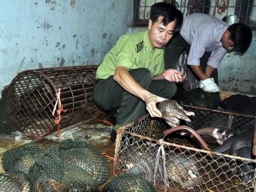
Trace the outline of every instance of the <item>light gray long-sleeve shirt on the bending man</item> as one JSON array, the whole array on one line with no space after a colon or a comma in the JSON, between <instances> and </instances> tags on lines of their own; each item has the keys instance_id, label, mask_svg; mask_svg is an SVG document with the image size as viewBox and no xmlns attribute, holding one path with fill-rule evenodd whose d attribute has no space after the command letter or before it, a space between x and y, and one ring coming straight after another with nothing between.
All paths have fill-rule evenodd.
<instances>
[{"instance_id":1,"label":"light gray long-sleeve shirt on the bending man","mask_svg":"<svg viewBox=\"0 0 256 192\"><path fill-rule=\"evenodd\" d=\"M184 18L180 35L191 45L188 65L200 65L204 52L212 52L207 65L218 68L227 50L220 42L229 24L203 13L189 14Z\"/></svg>"}]
</instances>

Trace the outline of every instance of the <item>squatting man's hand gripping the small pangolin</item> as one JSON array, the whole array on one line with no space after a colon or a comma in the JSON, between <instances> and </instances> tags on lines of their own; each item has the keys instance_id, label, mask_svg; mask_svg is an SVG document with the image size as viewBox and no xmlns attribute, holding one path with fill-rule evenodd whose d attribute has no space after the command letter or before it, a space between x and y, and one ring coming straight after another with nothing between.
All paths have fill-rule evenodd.
<instances>
[{"instance_id":1,"label":"squatting man's hand gripping the small pangolin","mask_svg":"<svg viewBox=\"0 0 256 192\"><path fill-rule=\"evenodd\" d=\"M156 108L156 103L166 100L165 98L158 97L157 95L148 92L145 97L146 109L151 117L162 118L162 113Z\"/></svg>"}]
</instances>

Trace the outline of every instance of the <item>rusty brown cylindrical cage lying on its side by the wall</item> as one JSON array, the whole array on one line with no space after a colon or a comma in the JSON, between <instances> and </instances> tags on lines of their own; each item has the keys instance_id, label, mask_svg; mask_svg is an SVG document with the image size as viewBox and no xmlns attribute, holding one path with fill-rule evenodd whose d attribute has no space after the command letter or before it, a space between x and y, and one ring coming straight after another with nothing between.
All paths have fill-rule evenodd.
<instances>
[{"instance_id":1,"label":"rusty brown cylindrical cage lying on its side by the wall","mask_svg":"<svg viewBox=\"0 0 256 192\"><path fill-rule=\"evenodd\" d=\"M95 118L103 111L93 102L98 66L73 66L25 70L9 86L9 113L18 130L29 138L42 139L57 130L57 111L52 112L60 89L61 129ZM57 109L58 110L58 105Z\"/></svg>"}]
</instances>

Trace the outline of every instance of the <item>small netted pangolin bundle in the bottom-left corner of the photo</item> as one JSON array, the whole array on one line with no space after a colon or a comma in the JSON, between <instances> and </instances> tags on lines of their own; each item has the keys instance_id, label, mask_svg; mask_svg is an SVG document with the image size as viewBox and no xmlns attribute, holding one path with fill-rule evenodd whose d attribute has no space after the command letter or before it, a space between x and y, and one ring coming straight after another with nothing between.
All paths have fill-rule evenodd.
<instances>
[{"instance_id":1,"label":"small netted pangolin bundle in the bottom-left corner of the photo","mask_svg":"<svg viewBox=\"0 0 256 192\"><path fill-rule=\"evenodd\" d=\"M29 192L30 183L27 174L21 171L6 172L0 174L0 191L1 192Z\"/></svg>"}]
</instances>

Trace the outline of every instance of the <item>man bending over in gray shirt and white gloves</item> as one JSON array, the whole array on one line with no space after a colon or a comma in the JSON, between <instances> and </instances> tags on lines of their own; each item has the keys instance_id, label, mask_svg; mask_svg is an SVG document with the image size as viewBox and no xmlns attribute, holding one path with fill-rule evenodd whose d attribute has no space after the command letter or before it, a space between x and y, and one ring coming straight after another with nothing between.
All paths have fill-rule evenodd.
<instances>
[{"instance_id":1,"label":"man bending over in gray shirt and white gloves","mask_svg":"<svg viewBox=\"0 0 256 192\"><path fill-rule=\"evenodd\" d=\"M242 23L228 23L203 13L184 18L180 33L165 47L165 68L175 69L181 53L188 53L187 65L197 76L199 87L219 92L218 66L226 52L243 55L252 41L252 31Z\"/></svg>"}]
</instances>

